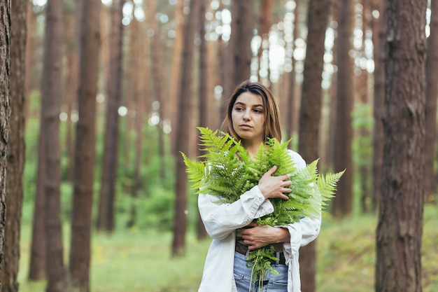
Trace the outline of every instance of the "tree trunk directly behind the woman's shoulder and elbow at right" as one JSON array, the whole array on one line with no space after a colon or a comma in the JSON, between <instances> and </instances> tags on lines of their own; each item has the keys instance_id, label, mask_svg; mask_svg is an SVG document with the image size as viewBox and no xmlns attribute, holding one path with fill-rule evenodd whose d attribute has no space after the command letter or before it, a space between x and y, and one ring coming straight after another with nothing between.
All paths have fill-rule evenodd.
<instances>
[{"instance_id":1,"label":"tree trunk directly behind the woman's shoulder and elbow at right","mask_svg":"<svg viewBox=\"0 0 438 292\"><path fill-rule=\"evenodd\" d=\"M331 0L310 0L307 25L309 27L304 60L301 108L299 111L298 152L306 162L319 157L319 125L323 104L323 65L325 31L327 29ZM302 291L316 291L316 242L299 250Z\"/></svg>"}]
</instances>

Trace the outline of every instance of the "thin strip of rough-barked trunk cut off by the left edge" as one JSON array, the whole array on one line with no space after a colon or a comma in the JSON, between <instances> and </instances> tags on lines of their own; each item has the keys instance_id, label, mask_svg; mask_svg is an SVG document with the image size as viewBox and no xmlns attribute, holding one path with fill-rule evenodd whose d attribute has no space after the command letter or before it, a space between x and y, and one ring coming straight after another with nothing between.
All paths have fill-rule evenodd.
<instances>
[{"instance_id":1,"label":"thin strip of rough-barked trunk cut off by the left edge","mask_svg":"<svg viewBox=\"0 0 438 292\"><path fill-rule=\"evenodd\" d=\"M0 289L6 225L6 166L8 164L9 78L10 78L10 1L0 0Z\"/></svg>"}]
</instances>

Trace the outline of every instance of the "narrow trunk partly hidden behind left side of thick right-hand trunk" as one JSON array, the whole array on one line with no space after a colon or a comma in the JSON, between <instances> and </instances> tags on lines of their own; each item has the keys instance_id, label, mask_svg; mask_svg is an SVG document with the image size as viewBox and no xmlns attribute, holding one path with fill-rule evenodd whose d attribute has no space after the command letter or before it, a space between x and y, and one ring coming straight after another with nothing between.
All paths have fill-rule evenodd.
<instances>
[{"instance_id":1,"label":"narrow trunk partly hidden behind left side of thick right-hand trunk","mask_svg":"<svg viewBox=\"0 0 438 292\"><path fill-rule=\"evenodd\" d=\"M379 11L379 18L372 21L372 41L374 54L374 99L373 99L373 191L372 208L377 209L380 200L380 186L383 161L383 96L385 95L384 46L386 38L385 11L383 0L372 0L372 9Z\"/></svg>"}]
</instances>

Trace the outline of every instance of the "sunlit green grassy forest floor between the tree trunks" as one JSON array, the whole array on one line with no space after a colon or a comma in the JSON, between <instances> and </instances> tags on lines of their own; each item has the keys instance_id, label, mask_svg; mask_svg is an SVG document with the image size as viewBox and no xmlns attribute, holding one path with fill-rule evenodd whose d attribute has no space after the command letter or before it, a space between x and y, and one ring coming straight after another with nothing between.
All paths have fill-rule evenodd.
<instances>
[{"instance_id":1,"label":"sunlit green grassy forest floor between the tree trunks","mask_svg":"<svg viewBox=\"0 0 438 292\"><path fill-rule=\"evenodd\" d=\"M437 223L438 207L426 206L423 292L438 291ZM22 228L20 292L43 292L43 281L27 282L29 228ZM334 220L325 214L317 239L318 292L374 291L375 230L374 215ZM198 241L189 234L185 257L172 258L169 232L132 229L93 235L92 241L91 292L195 292L210 244L210 239Z\"/></svg>"}]
</instances>

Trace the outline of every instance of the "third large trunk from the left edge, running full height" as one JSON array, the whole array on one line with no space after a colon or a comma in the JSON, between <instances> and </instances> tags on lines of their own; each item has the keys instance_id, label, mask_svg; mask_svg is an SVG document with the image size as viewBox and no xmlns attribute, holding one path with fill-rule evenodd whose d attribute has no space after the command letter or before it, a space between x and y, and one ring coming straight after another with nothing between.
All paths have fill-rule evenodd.
<instances>
[{"instance_id":1,"label":"third large trunk from the left edge, running full height","mask_svg":"<svg viewBox=\"0 0 438 292\"><path fill-rule=\"evenodd\" d=\"M41 132L45 149L45 240L47 292L64 289L64 249L61 224L61 163L59 112L62 97L62 2L48 0L45 7L45 39L41 84Z\"/></svg>"}]
</instances>

